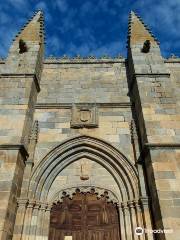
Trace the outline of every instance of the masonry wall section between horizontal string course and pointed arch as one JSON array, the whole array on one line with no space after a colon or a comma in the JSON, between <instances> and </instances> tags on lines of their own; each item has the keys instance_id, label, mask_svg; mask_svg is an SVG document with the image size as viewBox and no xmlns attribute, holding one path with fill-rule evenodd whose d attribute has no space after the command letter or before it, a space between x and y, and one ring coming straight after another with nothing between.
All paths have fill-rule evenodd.
<instances>
[{"instance_id":1,"label":"masonry wall section between horizontal string course and pointed arch","mask_svg":"<svg viewBox=\"0 0 180 240\"><path fill-rule=\"evenodd\" d=\"M117 147L128 159L134 161L129 123L130 108L99 108L99 127L92 129L70 128L71 109L36 109L39 121L39 138L35 162L67 138L85 134L103 139Z\"/></svg>"}]
</instances>

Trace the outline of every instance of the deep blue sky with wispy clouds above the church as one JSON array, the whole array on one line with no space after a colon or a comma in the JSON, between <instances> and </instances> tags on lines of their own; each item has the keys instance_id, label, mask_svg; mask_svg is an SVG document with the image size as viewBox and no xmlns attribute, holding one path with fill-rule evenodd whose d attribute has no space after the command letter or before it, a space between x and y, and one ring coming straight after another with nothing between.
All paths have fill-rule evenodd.
<instances>
[{"instance_id":1,"label":"deep blue sky with wispy clouds above the church","mask_svg":"<svg viewBox=\"0 0 180 240\"><path fill-rule=\"evenodd\" d=\"M0 0L0 56L33 12L45 14L46 56L124 55L128 15L137 12L160 41L180 56L180 0Z\"/></svg>"}]
</instances>

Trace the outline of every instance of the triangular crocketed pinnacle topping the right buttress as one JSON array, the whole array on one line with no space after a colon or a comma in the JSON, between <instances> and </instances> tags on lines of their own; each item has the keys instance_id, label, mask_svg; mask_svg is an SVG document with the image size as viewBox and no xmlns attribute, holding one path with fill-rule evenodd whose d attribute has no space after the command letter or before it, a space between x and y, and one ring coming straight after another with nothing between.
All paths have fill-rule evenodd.
<instances>
[{"instance_id":1,"label":"triangular crocketed pinnacle topping the right buttress","mask_svg":"<svg viewBox=\"0 0 180 240\"><path fill-rule=\"evenodd\" d=\"M137 13L131 11L128 23L128 44L138 44L149 40L152 44L159 44L148 26Z\"/></svg>"}]
</instances>

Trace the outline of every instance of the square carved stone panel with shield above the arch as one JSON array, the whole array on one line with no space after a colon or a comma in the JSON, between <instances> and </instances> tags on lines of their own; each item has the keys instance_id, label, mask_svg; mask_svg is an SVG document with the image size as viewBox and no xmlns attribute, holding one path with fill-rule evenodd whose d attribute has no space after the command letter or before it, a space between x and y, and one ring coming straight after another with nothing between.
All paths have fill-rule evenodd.
<instances>
[{"instance_id":1,"label":"square carved stone panel with shield above the arch","mask_svg":"<svg viewBox=\"0 0 180 240\"><path fill-rule=\"evenodd\" d=\"M98 127L97 107L91 104L77 104L72 108L72 128Z\"/></svg>"}]
</instances>

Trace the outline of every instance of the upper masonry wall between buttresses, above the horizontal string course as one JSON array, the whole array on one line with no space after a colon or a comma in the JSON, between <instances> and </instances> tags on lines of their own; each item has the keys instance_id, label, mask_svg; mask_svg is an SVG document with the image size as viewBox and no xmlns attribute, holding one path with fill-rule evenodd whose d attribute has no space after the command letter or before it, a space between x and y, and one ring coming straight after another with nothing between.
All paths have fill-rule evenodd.
<instances>
[{"instance_id":1,"label":"upper masonry wall between buttresses, above the horizontal string course","mask_svg":"<svg viewBox=\"0 0 180 240\"><path fill-rule=\"evenodd\" d=\"M38 103L129 102L126 68L119 62L44 64Z\"/></svg>"}]
</instances>

